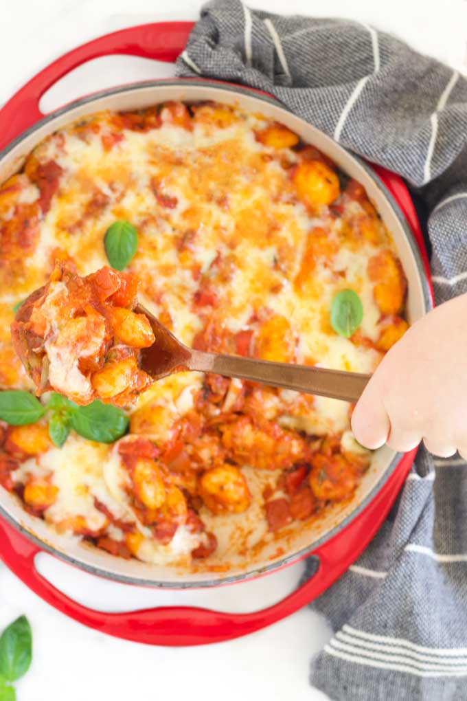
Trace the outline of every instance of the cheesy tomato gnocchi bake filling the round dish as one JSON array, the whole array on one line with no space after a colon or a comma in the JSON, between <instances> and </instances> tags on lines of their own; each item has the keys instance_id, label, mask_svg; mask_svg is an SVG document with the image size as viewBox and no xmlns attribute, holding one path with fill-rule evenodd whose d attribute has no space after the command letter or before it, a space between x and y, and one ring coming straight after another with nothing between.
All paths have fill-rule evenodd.
<instances>
[{"instance_id":1,"label":"cheesy tomato gnocchi bake filling the round dish","mask_svg":"<svg viewBox=\"0 0 467 701\"><path fill-rule=\"evenodd\" d=\"M51 529L195 566L244 519L247 557L354 494L370 453L347 402L135 372L136 294L187 346L263 360L370 373L404 334L365 189L285 125L214 102L82 118L0 186L0 242L0 404L24 409L0 411L0 484Z\"/></svg>"}]
</instances>

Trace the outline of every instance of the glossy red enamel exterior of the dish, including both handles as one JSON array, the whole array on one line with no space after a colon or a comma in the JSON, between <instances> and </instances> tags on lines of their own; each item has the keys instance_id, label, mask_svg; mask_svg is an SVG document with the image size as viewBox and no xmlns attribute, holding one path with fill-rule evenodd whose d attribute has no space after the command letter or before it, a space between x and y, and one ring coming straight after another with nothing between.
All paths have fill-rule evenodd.
<instances>
[{"instance_id":1,"label":"glossy red enamel exterior of the dish, including both handles","mask_svg":"<svg viewBox=\"0 0 467 701\"><path fill-rule=\"evenodd\" d=\"M99 56L127 54L173 62L181 53L193 22L162 22L130 27L79 46L34 76L0 110L0 150L43 118L41 96L81 64ZM428 283L424 240L410 195L397 175L374 166L403 211L421 250ZM430 283L431 285L431 283ZM356 560L382 524L400 491L416 450L405 454L375 498L347 526L309 555L319 559L314 576L277 604L253 613L221 613L190 606L165 606L127 613L103 613L77 604L35 569L40 547L15 526L0 520L0 557L22 582L50 606L83 625L126 640L150 645L188 646L221 642L271 625L319 597ZM303 557L303 556L302 556ZM290 563L287 563L290 564ZM285 565L284 565L285 566Z\"/></svg>"}]
</instances>

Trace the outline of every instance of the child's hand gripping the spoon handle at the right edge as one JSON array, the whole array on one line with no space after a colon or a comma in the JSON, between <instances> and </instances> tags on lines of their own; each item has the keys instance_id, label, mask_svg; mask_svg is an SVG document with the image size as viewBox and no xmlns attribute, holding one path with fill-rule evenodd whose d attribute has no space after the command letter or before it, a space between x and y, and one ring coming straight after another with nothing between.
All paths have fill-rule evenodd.
<instances>
[{"instance_id":1,"label":"child's hand gripping the spoon handle at the right edge","mask_svg":"<svg viewBox=\"0 0 467 701\"><path fill-rule=\"evenodd\" d=\"M417 321L387 353L354 409L356 440L407 451L423 439L467 459L467 294Z\"/></svg>"}]
</instances>

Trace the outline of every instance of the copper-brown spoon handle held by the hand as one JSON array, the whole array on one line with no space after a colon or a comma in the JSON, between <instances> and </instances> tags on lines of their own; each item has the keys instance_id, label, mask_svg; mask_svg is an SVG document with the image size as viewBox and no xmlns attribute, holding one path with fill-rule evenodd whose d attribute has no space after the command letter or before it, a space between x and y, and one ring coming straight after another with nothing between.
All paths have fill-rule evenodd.
<instances>
[{"instance_id":1,"label":"copper-brown spoon handle held by the hand","mask_svg":"<svg viewBox=\"0 0 467 701\"><path fill-rule=\"evenodd\" d=\"M308 365L290 365L286 362L252 360L237 355L221 355L191 351L190 370L215 372L228 377L261 382L273 387L284 387L306 394L333 397L356 402L365 389L371 375L357 372L328 370Z\"/></svg>"}]
</instances>

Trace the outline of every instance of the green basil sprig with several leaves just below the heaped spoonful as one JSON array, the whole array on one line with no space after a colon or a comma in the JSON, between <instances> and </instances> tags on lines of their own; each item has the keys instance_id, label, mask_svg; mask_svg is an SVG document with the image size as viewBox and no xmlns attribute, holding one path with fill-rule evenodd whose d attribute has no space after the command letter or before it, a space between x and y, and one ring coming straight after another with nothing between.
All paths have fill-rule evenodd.
<instances>
[{"instance_id":1,"label":"green basil sprig with several leaves just below the heaped spoonful","mask_svg":"<svg viewBox=\"0 0 467 701\"><path fill-rule=\"evenodd\" d=\"M0 419L11 426L25 426L35 423L48 414L50 440L59 448L73 428L76 433L98 443L113 443L127 433L128 417L118 407L95 400L87 407L78 407L67 397L57 392L50 395L43 406L29 392L8 390L0 392ZM1 701L1 697L0 697Z\"/></svg>"}]
</instances>

